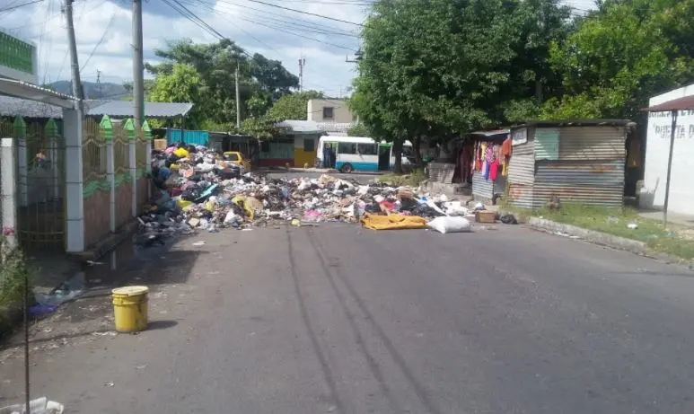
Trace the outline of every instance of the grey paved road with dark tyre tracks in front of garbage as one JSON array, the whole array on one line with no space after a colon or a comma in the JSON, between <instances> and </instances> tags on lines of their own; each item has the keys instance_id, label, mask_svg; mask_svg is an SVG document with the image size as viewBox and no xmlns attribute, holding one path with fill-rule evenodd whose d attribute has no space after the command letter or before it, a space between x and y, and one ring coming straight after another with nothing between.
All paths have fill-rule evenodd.
<instances>
[{"instance_id":1,"label":"grey paved road with dark tyre tracks in front of garbage","mask_svg":"<svg viewBox=\"0 0 694 414\"><path fill-rule=\"evenodd\" d=\"M519 226L205 237L133 273L161 288L153 330L45 351L36 392L103 414L694 412L682 269Z\"/></svg>"}]
</instances>

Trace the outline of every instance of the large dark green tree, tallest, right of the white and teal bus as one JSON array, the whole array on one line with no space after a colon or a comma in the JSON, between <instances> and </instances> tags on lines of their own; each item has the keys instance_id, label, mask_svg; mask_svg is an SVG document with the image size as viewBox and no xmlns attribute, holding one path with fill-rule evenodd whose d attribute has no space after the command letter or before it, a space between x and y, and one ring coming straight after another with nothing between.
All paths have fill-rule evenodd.
<instances>
[{"instance_id":1,"label":"large dark green tree, tallest, right of the white and teal bus","mask_svg":"<svg viewBox=\"0 0 694 414\"><path fill-rule=\"evenodd\" d=\"M350 105L374 138L410 139L417 158L423 137L537 113L556 93L545 57L568 14L558 0L376 2Z\"/></svg>"}]
</instances>

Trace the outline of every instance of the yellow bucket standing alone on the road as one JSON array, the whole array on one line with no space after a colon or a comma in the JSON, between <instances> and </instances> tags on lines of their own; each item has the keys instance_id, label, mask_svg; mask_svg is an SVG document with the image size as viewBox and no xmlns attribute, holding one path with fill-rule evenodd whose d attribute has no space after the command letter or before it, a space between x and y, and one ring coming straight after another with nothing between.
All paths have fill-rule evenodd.
<instances>
[{"instance_id":1,"label":"yellow bucket standing alone on the road","mask_svg":"<svg viewBox=\"0 0 694 414\"><path fill-rule=\"evenodd\" d=\"M125 286L111 290L116 330L136 332L147 329L147 286Z\"/></svg>"}]
</instances>

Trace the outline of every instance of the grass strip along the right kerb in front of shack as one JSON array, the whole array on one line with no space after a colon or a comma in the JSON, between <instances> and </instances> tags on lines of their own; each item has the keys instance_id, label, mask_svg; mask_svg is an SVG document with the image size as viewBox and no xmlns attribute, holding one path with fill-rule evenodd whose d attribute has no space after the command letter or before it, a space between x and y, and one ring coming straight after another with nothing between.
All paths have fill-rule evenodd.
<instances>
[{"instance_id":1,"label":"grass strip along the right kerb in front of shack","mask_svg":"<svg viewBox=\"0 0 694 414\"><path fill-rule=\"evenodd\" d=\"M613 234L645 242L648 248L655 252L694 260L694 230L672 224L665 228L662 221L639 216L634 208L572 204L562 204L559 210L505 207L518 216L542 217L558 223ZM632 223L637 225L636 229L628 228L628 225Z\"/></svg>"}]
</instances>

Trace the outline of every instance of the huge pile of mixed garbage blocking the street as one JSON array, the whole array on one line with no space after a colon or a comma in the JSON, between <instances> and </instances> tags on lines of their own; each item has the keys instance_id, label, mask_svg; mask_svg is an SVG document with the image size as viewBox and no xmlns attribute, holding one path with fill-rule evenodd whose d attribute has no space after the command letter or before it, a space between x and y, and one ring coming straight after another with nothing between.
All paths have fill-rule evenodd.
<instances>
[{"instance_id":1,"label":"huge pile of mixed garbage blocking the street","mask_svg":"<svg viewBox=\"0 0 694 414\"><path fill-rule=\"evenodd\" d=\"M153 198L139 217L146 229L140 244L160 242L165 234L226 227L356 223L367 215L431 219L470 214L460 201L377 181L362 185L327 174L278 179L246 172L241 164L204 146L155 151L152 180Z\"/></svg>"}]
</instances>

